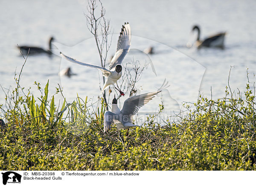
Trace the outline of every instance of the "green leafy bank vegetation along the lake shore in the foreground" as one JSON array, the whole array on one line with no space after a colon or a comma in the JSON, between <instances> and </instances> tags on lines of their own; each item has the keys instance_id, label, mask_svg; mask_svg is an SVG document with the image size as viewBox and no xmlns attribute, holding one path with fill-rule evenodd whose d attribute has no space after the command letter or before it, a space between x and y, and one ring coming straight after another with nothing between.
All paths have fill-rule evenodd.
<instances>
[{"instance_id":1,"label":"green leafy bank vegetation along the lake shore in the foreground","mask_svg":"<svg viewBox=\"0 0 256 186\"><path fill-rule=\"evenodd\" d=\"M18 83L18 82L17 82ZM129 131L103 133L105 105L95 115L87 100L56 104L17 89L1 105L1 170L256 170L255 91L211 100L159 126L154 117ZM61 93L60 91L57 91ZM230 96L231 94L231 96Z\"/></svg>"}]
</instances>

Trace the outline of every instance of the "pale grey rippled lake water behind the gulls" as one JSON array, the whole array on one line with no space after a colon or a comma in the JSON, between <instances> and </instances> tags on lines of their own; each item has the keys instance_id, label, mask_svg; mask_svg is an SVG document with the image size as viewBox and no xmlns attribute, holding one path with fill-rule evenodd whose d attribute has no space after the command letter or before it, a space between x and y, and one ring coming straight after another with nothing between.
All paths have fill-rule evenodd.
<instances>
[{"instance_id":1,"label":"pale grey rippled lake water behind the gulls","mask_svg":"<svg viewBox=\"0 0 256 186\"><path fill-rule=\"evenodd\" d=\"M131 25L131 51L126 62L151 62L136 87L140 93L156 91L164 79L170 87L163 101L167 112L181 108L182 102L196 102L198 93L213 99L225 95L230 66L230 87L245 90L247 68L250 84L256 73L256 1L119 1L104 0L106 17L111 21L113 39L109 57L116 50L116 42L124 22ZM14 74L24 62L17 44L48 47L54 36L55 45L70 57L99 65L99 56L92 35L87 29L86 1L1 1L0 2L0 84L4 90L14 89ZM201 26L201 38L215 32L227 31L225 49L186 48L194 24ZM138 50L153 46L156 54L145 55ZM58 54L58 50L55 51ZM60 77L60 70L71 67L77 76ZM153 72L153 68L156 74ZM20 84L39 96L34 81L45 86L49 79L50 94L58 84L64 96L72 102L77 93L90 99L99 95L99 77L95 69L72 64L57 55L29 56L23 68ZM101 84L102 85L102 84ZM6 89L5 89L6 88ZM113 96L113 95L112 95ZM111 99L113 99L111 96ZM128 96L128 95L127 95ZM127 98L122 97L121 105ZM4 104L0 91L0 104ZM61 99L59 96L58 99ZM160 103L156 97L141 111L154 112Z\"/></svg>"}]
</instances>

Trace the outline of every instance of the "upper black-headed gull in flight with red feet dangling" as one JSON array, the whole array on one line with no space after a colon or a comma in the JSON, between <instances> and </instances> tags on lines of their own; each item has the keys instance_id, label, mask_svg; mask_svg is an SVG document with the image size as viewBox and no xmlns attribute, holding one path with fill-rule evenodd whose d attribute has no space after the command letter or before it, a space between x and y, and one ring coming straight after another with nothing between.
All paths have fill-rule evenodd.
<instances>
[{"instance_id":1,"label":"upper black-headed gull in flight with red feet dangling","mask_svg":"<svg viewBox=\"0 0 256 186\"><path fill-rule=\"evenodd\" d=\"M67 55L64 55L62 52L60 53L62 57L64 57L65 59L73 63L77 63L87 67L93 67L101 70L103 73L103 76L107 77L107 80L105 81L105 84L103 85L103 88L101 91L101 93L103 93L103 91L109 85L113 84L114 86L115 83L117 84L117 80L122 76L121 64L123 59L125 58L125 55L129 52L130 46L131 46L131 27L129 23L125 23L122 26L122 31L120 32L119 39L117 41L116 53L112 58L111 62L109 63L109 70L97 65L86 64L81 61L77 61L76 59L73 59L68 57ZM117 89L117 90L119 90L120 94L124 96L124 93L120 89Z\"/></svg>"}]
</instances>

